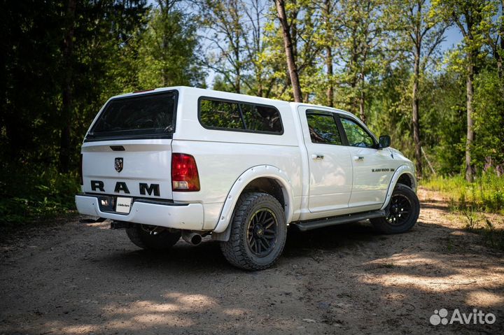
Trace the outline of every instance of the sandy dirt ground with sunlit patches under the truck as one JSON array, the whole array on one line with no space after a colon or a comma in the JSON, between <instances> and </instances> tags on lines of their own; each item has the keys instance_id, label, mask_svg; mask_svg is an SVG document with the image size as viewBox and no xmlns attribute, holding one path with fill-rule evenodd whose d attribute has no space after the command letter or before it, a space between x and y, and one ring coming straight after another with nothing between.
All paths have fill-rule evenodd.
<instances>
[{"instance_id":1,"label":"sandy dirt ground with sunlit patches under the truck","mask_svg":"<svg viewBox=\"0 0 504 335\"><path fill-rule=\"evenodd\" d=\"M290 231L260 272L228 265L214 241L153 253L106 223L45 227L0 249L0 334L504 334L503 253L419 197L407 234ZM496 320L430 325L441 308Z\"/></svg>"}]
</instances>

